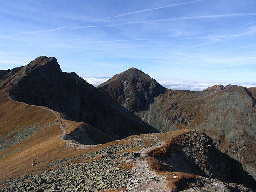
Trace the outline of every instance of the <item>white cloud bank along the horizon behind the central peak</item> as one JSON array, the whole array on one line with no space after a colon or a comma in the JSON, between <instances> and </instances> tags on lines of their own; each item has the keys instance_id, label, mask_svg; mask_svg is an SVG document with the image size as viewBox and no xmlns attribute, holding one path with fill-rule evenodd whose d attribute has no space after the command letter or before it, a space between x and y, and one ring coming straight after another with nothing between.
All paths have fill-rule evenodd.
<instances>
[{"instance_id":1,"label":"white cloud bank along the horizon behind the central peak","mask_svg":"<svg viewBox=\"0 0 256 192\"><path fill-rule=\"evenodd\" d=\"M86 77L83 78L88 83L97 87L101 83L104 83L110 77ZM185 80L168 80L168 79L156 79L156 81L161 84L163 87L168 89L177 89L177 90L190 90L190 91L202 91L213 85L223 85L228 84L241 85L243 87L256 87L256 83L232 83L232 82L197 82L197 81L185 81Z\"/></svg>"}]
</instances>

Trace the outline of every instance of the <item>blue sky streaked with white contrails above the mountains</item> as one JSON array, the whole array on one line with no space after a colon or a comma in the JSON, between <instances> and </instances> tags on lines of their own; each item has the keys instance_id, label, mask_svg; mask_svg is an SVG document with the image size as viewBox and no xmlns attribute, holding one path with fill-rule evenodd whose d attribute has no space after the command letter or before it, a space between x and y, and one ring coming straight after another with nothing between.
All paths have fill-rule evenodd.
<instances>
[{"instance_id":1,"label":"blue sky streaked with white contrails above the mountains","mask_svg":"<svg viewBox=\"0 0 256 192\"><path fill-rule=\"evenodd\" d=\"M256 0L3 0L0 26L0 70L46 55L81 77L256 87Z\"/></svg>"}]
</instances>

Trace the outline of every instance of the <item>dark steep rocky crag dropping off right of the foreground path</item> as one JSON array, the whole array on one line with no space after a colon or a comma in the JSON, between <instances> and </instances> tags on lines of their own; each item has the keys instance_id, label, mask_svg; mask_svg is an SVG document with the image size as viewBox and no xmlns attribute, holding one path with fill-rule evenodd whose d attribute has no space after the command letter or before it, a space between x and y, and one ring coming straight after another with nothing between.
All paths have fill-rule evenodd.
<instances>
[{"instance_id":1,"label":"dark steep rocky crag dropping off right of the foreground path","mask_svg":"<svg viewBox=\"0 0 256 192\"><path fill-rule=\"evenodd\" d=\"M218 150L201 131L187 131L148 154L158 160L150 161L158 171L202 175L256 189L256 181L243 170L241 163Z\"/></svg>"}]
</instances>

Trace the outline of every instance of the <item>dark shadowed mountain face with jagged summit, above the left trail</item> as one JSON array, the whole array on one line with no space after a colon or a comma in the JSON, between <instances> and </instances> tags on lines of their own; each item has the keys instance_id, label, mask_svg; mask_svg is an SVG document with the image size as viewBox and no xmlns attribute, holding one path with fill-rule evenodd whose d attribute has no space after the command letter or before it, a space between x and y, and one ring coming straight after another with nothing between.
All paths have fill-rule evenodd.
<instances>
[{"instance_id":1,"label":"dark shadowed mountain face with jagged summit, above the left trail","mask_svg":"<svg viewBox=\"0 0 256 192\"><path fill-rule=\"evenodd\" d=\"M38 57L3 79L1 84L6 85L13 100L49 107L116 139L155 132L74 72L62 72L54 57Z\"/></svg>"}]
</instances>

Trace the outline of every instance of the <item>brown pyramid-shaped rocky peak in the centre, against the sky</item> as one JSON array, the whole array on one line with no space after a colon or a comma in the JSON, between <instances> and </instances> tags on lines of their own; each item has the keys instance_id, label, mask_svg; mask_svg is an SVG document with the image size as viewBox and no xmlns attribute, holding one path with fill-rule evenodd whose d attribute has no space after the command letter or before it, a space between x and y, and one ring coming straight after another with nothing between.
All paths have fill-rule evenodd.
<instances>
[{"instance_id":1,"label":"brown pyramid-shaped rocky peak in the centre, against the sky","mask_svg":"<svg viewBox=\"0 0 256 192\"><path fill-rule=\"evenodd\" d=\"M108 92L120 105L132 112L149 109L154 98L166 90L149 75L135 68L115 75L97 88Z\"/></svg>"}]
</instances>

